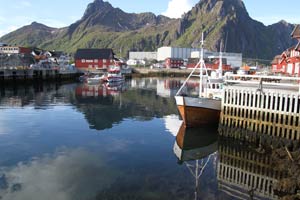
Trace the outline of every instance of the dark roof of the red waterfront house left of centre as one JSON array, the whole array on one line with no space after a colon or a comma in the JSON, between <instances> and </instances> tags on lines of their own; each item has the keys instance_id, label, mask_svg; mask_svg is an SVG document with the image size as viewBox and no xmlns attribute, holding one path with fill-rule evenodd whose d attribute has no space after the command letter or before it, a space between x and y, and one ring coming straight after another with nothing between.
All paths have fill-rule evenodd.
<instances>
[{"instance_id":1,"label":"dark roof of the red waterfront house left of centre","mask_svg":"<svg viewBox=\"0 0 300 200\"><path fill-rule=\"evenodd\" d=\"M75 59L114 59L112 49L78 49Z\"/></svg>"}]
</instances>

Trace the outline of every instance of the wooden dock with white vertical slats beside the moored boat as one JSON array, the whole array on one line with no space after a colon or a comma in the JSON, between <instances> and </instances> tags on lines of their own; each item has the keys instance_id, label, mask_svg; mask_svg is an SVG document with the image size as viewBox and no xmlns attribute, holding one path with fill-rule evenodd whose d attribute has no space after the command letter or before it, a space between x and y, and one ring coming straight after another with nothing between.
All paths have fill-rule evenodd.
<instances>
[{"instance_id":1,"label":"wooden dock with white vertical slats beside the moored boat","mask_svg":"<svg viewBox=\"0 0 300 200\"><path fill-rule=\"evenodd\" d=\"M226 76L220 124L300 140L299 83L295 77Z\"/></svg>"}]
</instances>

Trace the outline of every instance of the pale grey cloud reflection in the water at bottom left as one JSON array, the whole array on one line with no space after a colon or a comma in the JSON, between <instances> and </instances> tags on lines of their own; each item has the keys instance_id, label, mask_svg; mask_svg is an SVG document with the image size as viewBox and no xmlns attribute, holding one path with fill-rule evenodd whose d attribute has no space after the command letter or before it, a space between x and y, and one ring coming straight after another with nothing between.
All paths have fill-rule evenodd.
<instances>
[{"instance_id":1,"label":"pale grey cloud reflection in the water at bottom left","mask_svg":"<svg viewBox=\"0 0 300 200\"><path fill-rule=\"evenodd\" d=\"M66 149L2 169L2 200L92 199L121 175L105 160L84 149Z\"/></svg>"}]
</instances>

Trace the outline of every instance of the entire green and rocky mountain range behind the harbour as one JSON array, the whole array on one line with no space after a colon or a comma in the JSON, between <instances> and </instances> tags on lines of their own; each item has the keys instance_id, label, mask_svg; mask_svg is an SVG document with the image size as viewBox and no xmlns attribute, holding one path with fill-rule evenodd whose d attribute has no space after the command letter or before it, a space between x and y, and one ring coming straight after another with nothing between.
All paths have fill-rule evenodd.
<instances>
[{"instance_id":1,"label":"entire green and rocky mountain range behind the harbour","mask_svg":"<svg viewBox=\"0 0 300 200\"><path fill-rule=\"evenodd\" d=\"M285 21L265 26L253 20L242 0L201 0L181 19L153 13L126 13L108 2L95 0L83 17L55 29L36 22L9 33L0 41L75 52L77 48L113 48L124 56L129 50L154 51L160 46L199 47L242 52L244 57L272 59L295 41L294 25Z\"/></svg>"}]
</instances>

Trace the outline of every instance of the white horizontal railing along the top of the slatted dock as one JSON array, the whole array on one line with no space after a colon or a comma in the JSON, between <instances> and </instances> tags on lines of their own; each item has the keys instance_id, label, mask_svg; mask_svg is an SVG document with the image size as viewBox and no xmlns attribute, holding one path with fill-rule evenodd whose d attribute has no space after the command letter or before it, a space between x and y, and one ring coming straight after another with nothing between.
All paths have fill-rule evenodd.
<instances>
[{"instance_id":1,"label":"white horizontal railing along the top of the slatted dock","mask_svg":"<svg viewBox=\"0 0 300 200\"><path fill-rule=\"evenodd\" d=\"M228 74L225 75L225 84L291 88L300 93L300 77Z\"/></svg>"}]
</instances>

